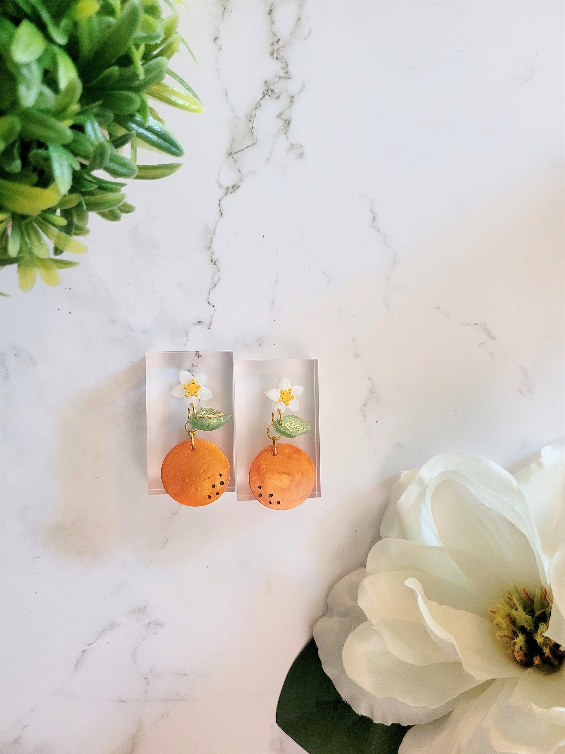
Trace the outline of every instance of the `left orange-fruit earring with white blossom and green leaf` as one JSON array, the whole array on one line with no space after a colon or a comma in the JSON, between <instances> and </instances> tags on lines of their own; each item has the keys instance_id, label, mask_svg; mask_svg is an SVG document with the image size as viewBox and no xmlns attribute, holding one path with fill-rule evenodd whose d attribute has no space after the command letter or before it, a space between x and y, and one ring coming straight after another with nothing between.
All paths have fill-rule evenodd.
<instances>
[{"instance_id":1,"label":"left orange-fruit earring with white blossom and green leaf","mask_svg":"<svg viewBox=\"0 0 565 754\"><path fill-rule=\"evenodd\" d=\"M182 505L197 507L217 500L230 481L230 464L224 452L207 440L196 440L199 430L209 432L228 421L230 414L216 409L198 409L200 401L212 398L205 372L179 372L179 385L171 393L188 406L185 430L191 439L170 450L161 466L161 481L168 495Z\"/></svg>"}]
</instances>

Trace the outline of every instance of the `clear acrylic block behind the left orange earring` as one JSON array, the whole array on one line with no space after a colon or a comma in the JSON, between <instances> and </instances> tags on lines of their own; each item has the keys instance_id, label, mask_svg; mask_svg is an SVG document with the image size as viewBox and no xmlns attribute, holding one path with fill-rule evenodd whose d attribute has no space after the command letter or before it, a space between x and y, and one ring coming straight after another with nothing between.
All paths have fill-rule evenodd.
<instances>
[{"instance_id":1,"label":"clear acrylic block behind the left orange earring","mask_svg":"<svg viewBox=\"0 0 565 754\"><path fill-rule=\"evenodd\" d=\"M185 431L188 408L185 401L171 395L179 384L179 369L207 372L206 387L213 397L200 406L231 414L223 427L199 432L199 437L217 445L228 457L231 468L226 492L236 489L234 458L234 368L231 351L149 351L145 354L147 397L147 488L149 495L166 495L161 483L161 464L171 448L190 440Z\"/></svg>"}]
</instances>

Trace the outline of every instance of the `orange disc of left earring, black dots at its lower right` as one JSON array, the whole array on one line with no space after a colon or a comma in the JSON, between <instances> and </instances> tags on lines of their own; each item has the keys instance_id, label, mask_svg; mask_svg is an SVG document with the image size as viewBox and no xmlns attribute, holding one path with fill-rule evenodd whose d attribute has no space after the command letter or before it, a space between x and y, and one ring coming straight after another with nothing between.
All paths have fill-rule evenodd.
<instances>
[{"instance_id":1,"label":"orange disc of left earring, black dots at its lower right","mask_svg":"<svg viewBox=\"0 0 565 754\"><path fill-rule=\"evenodd\" d=\"M218 500L230 481L228 458L214 443L185 440L170 450L161 466L166 492L183 505L207 505Z\"/></svg>"}]
</instances>

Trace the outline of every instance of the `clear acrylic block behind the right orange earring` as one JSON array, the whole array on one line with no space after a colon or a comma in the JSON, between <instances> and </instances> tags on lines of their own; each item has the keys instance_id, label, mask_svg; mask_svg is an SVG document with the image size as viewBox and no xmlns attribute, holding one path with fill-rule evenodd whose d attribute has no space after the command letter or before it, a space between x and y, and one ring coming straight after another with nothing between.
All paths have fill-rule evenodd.
<instances>
[{"instance_id":1,"label":"clear acrylic block behind the right orange earring","mask_svg":"<svg viewBox=\"0 0 565 754\"><path fill-rule=\"evenodd\" d=\"M303 385L295 413L312 427L312 431L281 443L297 445L312 458L316 467L316 484L310 498L319 498L319 421L317 359L237 359L234 361L234 389L237 395L235 431L237 447L237 499L253 500L249 488L249 468L258 452L270 443L265 430L270 422L271 401L263 391L279 377L288 377L293 385ZM284 414L286 415L286 414Z\"/></svg>"}]
</instances>

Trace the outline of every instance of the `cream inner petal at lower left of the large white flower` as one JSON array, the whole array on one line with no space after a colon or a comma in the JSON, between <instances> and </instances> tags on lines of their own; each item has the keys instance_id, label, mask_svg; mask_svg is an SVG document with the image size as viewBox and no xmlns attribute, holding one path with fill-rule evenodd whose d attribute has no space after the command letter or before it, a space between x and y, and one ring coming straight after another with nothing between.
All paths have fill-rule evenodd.
<instances>
[{"instance_id":1,"label":"cream inner petal at lower left of the large white flower","mask_svg":"<svg viewBox=\"0 0 565 754\"><path fill-rule=\"evenodd\" d=\"M411 665L386 648L382 636L369 622L347 637L342 653L350 679L377 698L392 697L409 706L435 710L480 685L457 662ZM409 720L392 720L405 722Z\"/></svg>"}]
</instances>

